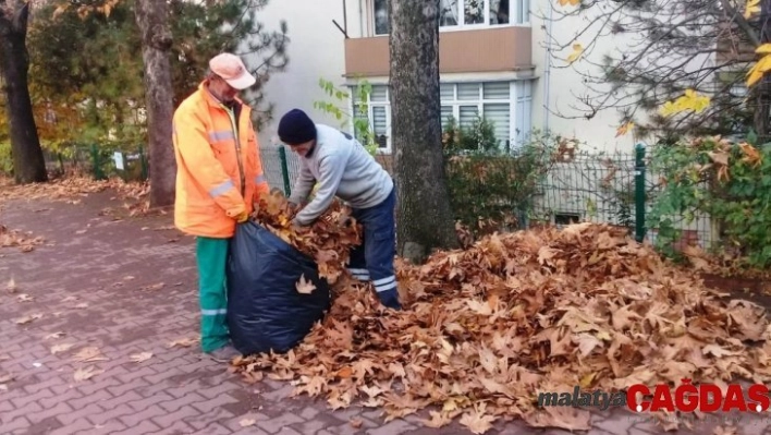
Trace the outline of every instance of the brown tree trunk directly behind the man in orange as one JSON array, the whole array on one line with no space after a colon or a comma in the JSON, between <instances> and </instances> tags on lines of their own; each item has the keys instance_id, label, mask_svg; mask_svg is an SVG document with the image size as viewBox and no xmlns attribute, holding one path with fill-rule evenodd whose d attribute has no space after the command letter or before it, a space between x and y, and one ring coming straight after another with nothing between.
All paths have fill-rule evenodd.
<instances>
[{"instance_id":1,"label":"brown tree trunk directly behind the man in orange","mask_svg":"<svg viewBox=\"0 0 771 435\"><path fill-rule=\"evenodd\" d=\"M172 37L167 2L137 0L136 23L142 33L142 58L145 63L145 98L149 140L150 207L174 204L176 161L171 143L174 116L171 82Z\"/></svg>"}]
</instances>

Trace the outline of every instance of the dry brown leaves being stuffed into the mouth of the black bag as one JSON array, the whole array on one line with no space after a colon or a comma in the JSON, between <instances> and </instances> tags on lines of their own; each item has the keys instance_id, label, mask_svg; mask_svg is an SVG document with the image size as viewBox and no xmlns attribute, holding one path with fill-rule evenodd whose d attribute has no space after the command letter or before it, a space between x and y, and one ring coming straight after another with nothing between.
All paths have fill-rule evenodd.
<instances>
[{"instance_id":1,"label":"dry brown leaves being stuffed into the mouth of the black bag","mask_svg":"<svg viewBox=\"0 0 771 435\"><path fill-rule=\"evenodd\" d=\"M292 228L294 214L283 193L274 190L260 197L252 219L314 258L321 278L336 282L351 249L362 243L362 226L351 216L351 208L336 200L309 227Z\"/></svg>"}]
</instances>

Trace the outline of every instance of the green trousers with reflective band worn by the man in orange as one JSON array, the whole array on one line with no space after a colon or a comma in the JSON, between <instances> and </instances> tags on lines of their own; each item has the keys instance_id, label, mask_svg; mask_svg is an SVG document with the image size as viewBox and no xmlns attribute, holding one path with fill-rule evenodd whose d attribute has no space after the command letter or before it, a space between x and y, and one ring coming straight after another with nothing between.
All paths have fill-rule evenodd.
<instances>
[{"instance_id":1,"label":"green trousers with reflective band worn by the man in orange","mask_svg":"<svg viewBox=\"0 0 771 435\"><path fill-rule=\"evenodd\" d=\"M200 302L200 346L211 352L228 343L228 290L225 265L230 239L196 238L198 299Z\"/></svg>"}]
</instances>

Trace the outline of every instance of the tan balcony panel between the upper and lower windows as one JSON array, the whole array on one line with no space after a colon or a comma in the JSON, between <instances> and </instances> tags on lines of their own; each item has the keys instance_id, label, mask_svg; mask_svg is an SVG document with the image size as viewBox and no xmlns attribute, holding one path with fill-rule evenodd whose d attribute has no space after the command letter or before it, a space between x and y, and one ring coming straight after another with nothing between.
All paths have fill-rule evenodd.
<instances>
[{"instance_id":1,"label":"tan balcony panel between the upper and lower windows","mask_svg":"<svg viewBox=\"0 0 771 435\"><path fill-rule=\"evenodd\" d=\"M518 71L533 67L530 27L439 33L440 73ZM389 37L345 39L345 76L388 76Z\"/></svg>"}]
</instances>

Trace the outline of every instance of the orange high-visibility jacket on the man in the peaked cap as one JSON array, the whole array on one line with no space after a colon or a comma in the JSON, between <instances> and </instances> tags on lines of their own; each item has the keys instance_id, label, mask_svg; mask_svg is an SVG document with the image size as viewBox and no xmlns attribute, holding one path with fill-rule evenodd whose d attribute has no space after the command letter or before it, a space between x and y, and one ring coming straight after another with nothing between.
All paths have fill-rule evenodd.
<instances>
[{"instance_id":1,"label":"orange high-visibility jacket on the man in the peaked cap","mask_svg":"<svg viewBox=\"0 0 771 435\"><path fill-rule=\"evenodd\" d=\"M236 105L240 110L225 108L205 81L174 112L174 225L185 233L233 237L234 217L243 210L252 213L253 203L269 192L252 109L238 99Z\"/></svg>"}]
</instances>

